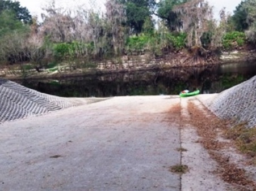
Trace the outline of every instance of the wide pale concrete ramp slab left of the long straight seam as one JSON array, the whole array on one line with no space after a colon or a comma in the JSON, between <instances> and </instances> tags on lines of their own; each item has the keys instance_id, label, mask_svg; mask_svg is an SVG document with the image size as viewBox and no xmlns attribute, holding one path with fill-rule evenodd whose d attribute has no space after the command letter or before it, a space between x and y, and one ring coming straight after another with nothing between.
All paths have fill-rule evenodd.
<instances>
[{"instance_id":1,"label":"wide pale concrete ramp slab left of the long straight seam","mask_svg":"<svg viewBox=\"0 0 256 191\"><path fill-rule=\"evenodd\" d=\"M0 190L180 190L178 97L115 97L0 124Z\"/></svg>"}]
</instances>

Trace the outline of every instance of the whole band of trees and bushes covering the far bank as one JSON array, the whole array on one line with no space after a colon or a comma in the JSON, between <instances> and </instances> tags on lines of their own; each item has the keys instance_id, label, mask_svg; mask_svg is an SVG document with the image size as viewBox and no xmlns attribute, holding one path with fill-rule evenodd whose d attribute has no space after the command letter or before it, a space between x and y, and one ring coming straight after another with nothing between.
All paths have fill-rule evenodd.
<instances>
[{"instance_id":1,"label":"whole band of trees and bushes covering the far bank","mask_svg":"<svg viewBox=\"0 0 256 191\"><path fill-rule=\"evenodd\" d=\"M222 10L220 23L205 0L107 0L105 6L104 14L63 11L52 1L39 24L19 2L0 0L0 63L31 63L40 72L63 62L75 70L122 55L157 58L186 49L186 62L196 65L220 50L256 44L256 0L241 2L232 16Z\"/></svg>"}]
</instances>

